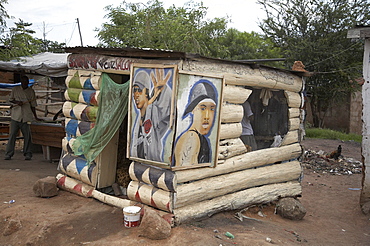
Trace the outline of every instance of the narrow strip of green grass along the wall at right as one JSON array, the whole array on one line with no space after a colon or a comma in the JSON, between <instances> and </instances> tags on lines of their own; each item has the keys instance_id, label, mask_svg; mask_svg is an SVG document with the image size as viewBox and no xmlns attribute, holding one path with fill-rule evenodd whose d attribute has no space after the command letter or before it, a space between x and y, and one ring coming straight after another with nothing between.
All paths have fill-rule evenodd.
<instances>
[{"instance_id":1,"label":"narrow strip of green grass along the wall at right","mask_svg":"<svg viewBox=\"0 0 370 246\"><path fill-rule=\"evenodd\" d=\"M322 128L307 128L306 129L306 137L307 138L321 138L321 139L339 139L342 141L355 141L361 143L362 136L357 134L347 134L340 131L334 131L330 129L322 129Z\"/></svg>"}]
</instances>

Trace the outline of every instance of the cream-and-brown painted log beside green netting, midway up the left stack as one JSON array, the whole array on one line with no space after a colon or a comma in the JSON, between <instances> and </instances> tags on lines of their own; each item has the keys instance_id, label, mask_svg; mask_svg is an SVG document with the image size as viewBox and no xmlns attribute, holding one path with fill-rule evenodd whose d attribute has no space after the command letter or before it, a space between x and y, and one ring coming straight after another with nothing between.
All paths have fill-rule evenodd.
<instances>
[{"instance_id":1,"label":"cream-and-brown painted log beside green netting, midway up the left stack","mask_svg":"<svg viewBox=\"0 0 370 246\"><path fill-rule=\"evenodd\" d=\"M88 106L83 103L66 101L63 104L63 114L65 117L82 120L96 121L98 107Z\"/></svg>"}]
</instances>

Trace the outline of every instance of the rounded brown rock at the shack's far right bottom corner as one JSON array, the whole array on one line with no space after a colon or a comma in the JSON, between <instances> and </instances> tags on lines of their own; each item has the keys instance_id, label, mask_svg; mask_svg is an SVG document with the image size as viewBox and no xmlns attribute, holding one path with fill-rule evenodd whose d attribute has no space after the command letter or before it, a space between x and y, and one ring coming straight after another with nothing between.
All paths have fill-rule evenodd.
<instances>
[{"instance_id":1,"label":"rounded brown rock at the shack's far right bottom corner","mask_svg":"<svg viewBox=\"0 0 370 246\"><path fill-rule=\"evenodd\" d=\"M301 220L306 215L306 209L294 198L282 198L276 204L276 212L283 218Z\"/></svg>"}]
</instances>

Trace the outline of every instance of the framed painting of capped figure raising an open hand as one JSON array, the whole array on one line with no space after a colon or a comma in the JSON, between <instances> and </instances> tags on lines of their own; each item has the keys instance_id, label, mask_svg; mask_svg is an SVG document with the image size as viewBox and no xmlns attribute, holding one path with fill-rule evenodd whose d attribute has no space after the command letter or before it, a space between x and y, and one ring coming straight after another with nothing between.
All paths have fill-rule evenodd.
<instances>
[{"instance_id":1,"label":"framed painting of capped figure raising an open hand","mask_svg":"<svg viewBox=\"0 0 370 246\"><path fill-rule=\"evenodd\" d=\"M169 168L177 66L133 64L130 77L127 157Z\"/></svg>"}]
</instances>

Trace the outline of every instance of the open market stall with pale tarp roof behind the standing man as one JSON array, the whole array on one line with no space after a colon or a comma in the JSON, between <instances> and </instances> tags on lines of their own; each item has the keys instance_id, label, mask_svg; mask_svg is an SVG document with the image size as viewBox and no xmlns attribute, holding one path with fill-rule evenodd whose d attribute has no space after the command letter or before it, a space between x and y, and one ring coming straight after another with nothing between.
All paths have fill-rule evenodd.
<instances>
[{"instance_id":1,"label":"open market stall with pale tarp roof behind the standing man","mask_svg":"<svg viewBox=\"0 0 370 246\"><path fill-rule=\"evenodd\" d=\"M42 151L49 161L59 160L65 136L62 117L53 120L64 103L67 53L44 52L33 56L0 61L0 141L8 140L10 123L9 95L13 86L20 85L21 74L30 79L37 99L36 111L43 122L32 122L34 151ZM22 139L21 133L18 139Z\"/></svg>"}]
</instances>

